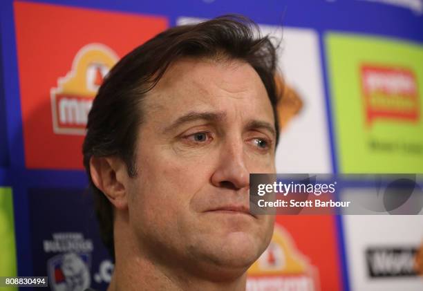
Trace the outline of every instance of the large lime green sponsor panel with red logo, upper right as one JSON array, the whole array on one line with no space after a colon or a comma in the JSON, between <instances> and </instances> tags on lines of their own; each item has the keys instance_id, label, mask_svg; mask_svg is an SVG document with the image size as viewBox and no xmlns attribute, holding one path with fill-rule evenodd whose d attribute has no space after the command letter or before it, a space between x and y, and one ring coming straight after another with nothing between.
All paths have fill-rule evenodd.
<instances>
[{"instance_id":1,"label":"large lime green sponsor panel with red logo, upper right","mask_svg":"<svg viewBox=\"0 0 423 291\"><path fill-rule=\"evenodd\" d=\"M325 36L343 173L423 173L423 46Z\"/></svg>"}]
</instances>

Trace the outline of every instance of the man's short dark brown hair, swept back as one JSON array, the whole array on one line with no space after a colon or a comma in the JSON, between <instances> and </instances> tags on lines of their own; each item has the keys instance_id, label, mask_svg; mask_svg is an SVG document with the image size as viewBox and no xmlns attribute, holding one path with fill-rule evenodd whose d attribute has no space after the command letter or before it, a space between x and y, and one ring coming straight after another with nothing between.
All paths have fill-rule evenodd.
<instances>
[{"instance_id":1,"label":"man's short dark brown hair, swept back","mask_svg":"<svg viewBox=\"0 0 423 291\"><path fill-rule=\"evenodd\" d=\"M218 62L239 59L259 74L274 111L276 141L279 124L276 104L276 48L269 37L260 37L253 21L226 15L195 25L169 28L138 46L116 64L88 114L87 132L82 152L84 167L93 190L100 234L114 259L113 207L93 184L91 157L118 156L125 162L129 176L136 175L135 144L143 122L142 100L160 80L169 65L181 57L211 58Z\"/></svg>"}]
</instances>

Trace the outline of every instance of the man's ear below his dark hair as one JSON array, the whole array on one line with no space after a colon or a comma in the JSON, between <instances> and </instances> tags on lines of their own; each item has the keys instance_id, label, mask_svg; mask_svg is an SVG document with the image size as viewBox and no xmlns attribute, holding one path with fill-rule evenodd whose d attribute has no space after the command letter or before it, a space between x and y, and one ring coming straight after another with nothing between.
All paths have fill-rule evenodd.
<instances>
[{"instance_id":1,"label":"man's ear below his dark hair","mask_svg":"<svg viewBox=\"0 0 423 291\"><path fill-rule=\"evenodd\" d=\"M91 157L91 180L113 204L116 209L125 209L128 205L126 193L129 180L125 163L117 157Z\"/></svg>"}]
</instances>

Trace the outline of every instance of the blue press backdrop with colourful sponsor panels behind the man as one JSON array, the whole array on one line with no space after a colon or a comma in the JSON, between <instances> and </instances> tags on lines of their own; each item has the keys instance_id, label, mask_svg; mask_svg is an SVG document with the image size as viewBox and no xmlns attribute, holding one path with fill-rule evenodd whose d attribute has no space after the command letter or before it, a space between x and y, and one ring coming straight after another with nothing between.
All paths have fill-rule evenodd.
<instances>
[{"instance_id":1,"label":"blue press backdrop with colourful sponsor panels behind the man","mask_svg":"<svg viewBox=\"0 0 423 291\"><path fill-rule=\"evenodd\" d=\"M422 0L3 0L0 276L106 289L113 263L82 169L93 97L135 46L227 13L282 39L294 97L279 172L423 173ZM279 216L247 289L423 290L422 238L422 216Z\"/></svg>"}]
</instances>

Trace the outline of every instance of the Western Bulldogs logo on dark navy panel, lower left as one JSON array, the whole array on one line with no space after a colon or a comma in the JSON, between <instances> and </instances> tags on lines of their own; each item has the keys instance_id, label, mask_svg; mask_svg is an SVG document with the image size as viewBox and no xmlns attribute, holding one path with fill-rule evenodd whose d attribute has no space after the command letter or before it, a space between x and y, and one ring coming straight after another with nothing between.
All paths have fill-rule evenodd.
<instances>
[{"instance_id":1,"label":"Western Bulldogs logo on dark navy panel, lower left","mask_svg":"<svg viewBox=\"0 0 423 291\"><path fill-rule=\"evenodd\" d=\"M80 291L91 285L93 241L79 232L59 232L43 241L44 252L59 253L47 261L47 274L54 291Z\"/></svg>"}]
</instances>

